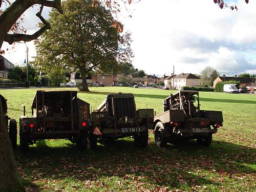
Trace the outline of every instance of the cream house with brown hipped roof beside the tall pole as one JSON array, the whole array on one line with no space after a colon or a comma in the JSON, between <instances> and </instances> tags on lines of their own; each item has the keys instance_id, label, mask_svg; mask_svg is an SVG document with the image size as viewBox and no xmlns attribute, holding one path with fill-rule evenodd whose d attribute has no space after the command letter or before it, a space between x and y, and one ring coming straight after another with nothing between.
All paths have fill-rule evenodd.
<instances>
[{"instance_id":1,"label":"cream house with brown hipped roof beside the tall pole","mask_svg":"<svg viewBox=\"0 0 256 192\"><path fill-rule=\"evenodd\" d=\"M174 86L176 90L180 90L182 87L200 87L201 79L191 73L181 73L174 78ZM173 84L173 79L172 79Z\"/></svg>"}]
</instances>

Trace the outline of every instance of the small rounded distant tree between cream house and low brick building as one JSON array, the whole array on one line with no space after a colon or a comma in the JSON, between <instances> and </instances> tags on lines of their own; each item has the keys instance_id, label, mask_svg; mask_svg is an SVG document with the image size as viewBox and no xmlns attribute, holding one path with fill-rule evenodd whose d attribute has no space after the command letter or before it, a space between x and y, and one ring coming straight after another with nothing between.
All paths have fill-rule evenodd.
<instances>
[{"instance_id":1,"label":"small rounded distant tree between cream house and low brick building","mask_svg":"<svg viewBox=\"0 0 256 192\"><path fill-rule=\"evenodd\" d=\"M211 87L214 84L214 80L219 76L220 74L218 73L217 70L214 68L208 66L206 67L203 71L201 71L200 76L202 79L202 84L204 86Z\"/></svg>"}]
</instances>

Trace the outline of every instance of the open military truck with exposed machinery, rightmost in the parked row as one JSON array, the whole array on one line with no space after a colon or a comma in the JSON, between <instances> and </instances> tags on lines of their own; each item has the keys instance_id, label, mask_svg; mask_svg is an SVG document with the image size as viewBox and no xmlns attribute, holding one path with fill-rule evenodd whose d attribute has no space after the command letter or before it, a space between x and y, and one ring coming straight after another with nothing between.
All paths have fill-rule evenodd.
<instances>
[{"instance_id":1,"label":"open military truck with exposed machinery, rightmost in the parked row","mask_svg":"<svg viewBox=\"0 0 256 192\"><path fill-rule=\"evenodd\" d=\"M197 139L208 146L222 123L221 111L200 110L198 91L179 91L164 99L163 113L154 118L155 143L164 147L168 142Z\"/></svg>"}]
</instances>

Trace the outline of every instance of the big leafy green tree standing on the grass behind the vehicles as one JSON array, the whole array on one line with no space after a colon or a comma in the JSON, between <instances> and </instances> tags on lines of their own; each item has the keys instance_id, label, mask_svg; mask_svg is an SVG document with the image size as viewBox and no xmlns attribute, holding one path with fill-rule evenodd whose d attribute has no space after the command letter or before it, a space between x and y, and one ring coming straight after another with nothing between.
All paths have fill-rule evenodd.
<instances>
[{"instance_id":1,"label":"big leafy green tree standing on the grass behind the vehicles","mask_svg":"<svg viewBox=\"0 0 256 192\"><path fill-rule=\"evenodd\" d=\"M92 7L91 0L66 0L63 14L50 12L51 29L35 41L35 65L43 71L74 68L89 91L86 77L93 70L112 72L113 65L130 60L130 34L117 32L111 12Z\"/></svg>"}]
</instances>

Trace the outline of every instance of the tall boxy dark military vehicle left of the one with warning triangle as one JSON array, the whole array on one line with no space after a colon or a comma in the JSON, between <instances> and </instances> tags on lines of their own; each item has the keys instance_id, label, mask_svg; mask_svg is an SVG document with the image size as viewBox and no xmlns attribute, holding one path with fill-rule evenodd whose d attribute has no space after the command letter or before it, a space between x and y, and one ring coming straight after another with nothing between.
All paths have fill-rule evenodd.
<instances>
[{"instance_id":1,"label":"tall boxy dark military vehicle left of the one with warning triangle","mask_svg":"<svg viewBox=\"0 0 256 192\"><path fill-rule=\"evenodd\" d=\"M31 110L32 117L19 118L21 151L40 139L69 139L86 149L90 104L76 91L36 91Z\"/></svg>"}]
</instances>

